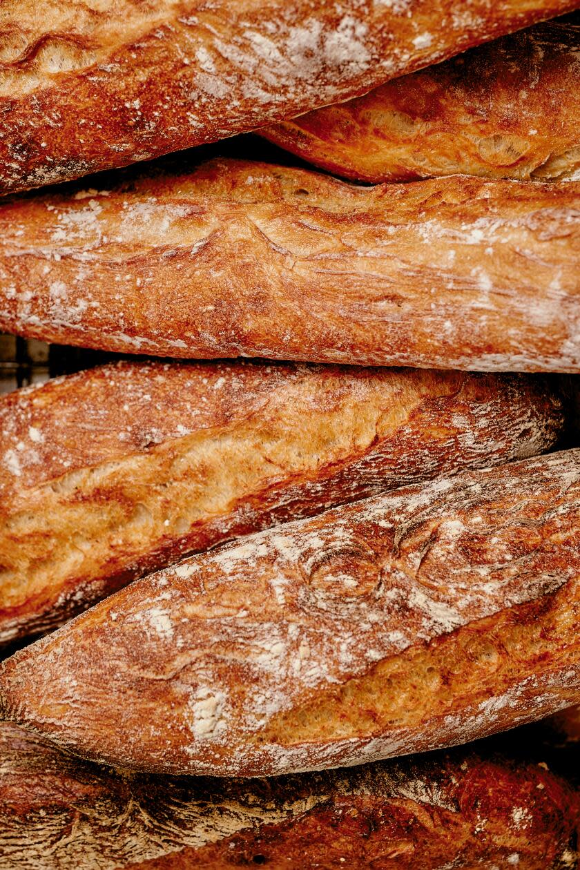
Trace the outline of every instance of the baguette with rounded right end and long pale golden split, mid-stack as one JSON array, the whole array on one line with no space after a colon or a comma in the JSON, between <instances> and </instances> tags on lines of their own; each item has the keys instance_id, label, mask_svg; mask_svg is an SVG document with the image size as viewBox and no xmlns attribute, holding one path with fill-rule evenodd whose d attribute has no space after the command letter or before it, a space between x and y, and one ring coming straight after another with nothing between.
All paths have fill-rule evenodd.
<instances>
[{"instance_id":1,"label":"baguette with rounded right end and long pale golden split, mid-stack","mask_svg":"<svg viewBox=\"0 0 580 870\"><path fill-rule=\"evenodd\" d=\"M0 641L184 554L549 450L548 378L122 363L0 398Z\"/></svg>"}]
</instances>

